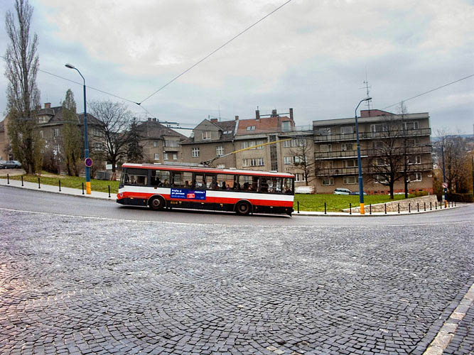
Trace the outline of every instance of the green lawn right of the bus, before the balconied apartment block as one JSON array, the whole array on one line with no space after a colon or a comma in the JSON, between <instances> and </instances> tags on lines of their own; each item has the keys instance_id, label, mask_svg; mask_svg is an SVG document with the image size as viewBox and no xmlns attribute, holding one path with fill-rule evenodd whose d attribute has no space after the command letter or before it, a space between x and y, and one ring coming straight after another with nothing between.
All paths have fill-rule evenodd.
<instances>
[{"instance_id":1,"label":"green lawn right of the bus, before the balconied apartment block","mask_svg":"<svg viewBox=\"0 0 474 355\"><path fill-rule=\"evenodd\" d=\"M409 197L413 197L410 196ZM389 195L365 195L364 204L365 208L369 208L369 204L391 202L397 200L404 200L405 195L394 195L394 200L390 200ZM349 208L349 204L352 207L359 206L358 195L331 195L331 194L319 194L319 195L301 195L296 194L293 204L295 211L298 208L298 202L300 203L300 211L324 211L324 202L326 202L326 209L328 212L340 212L341 209Z\"/></svg>"}]
</instances>

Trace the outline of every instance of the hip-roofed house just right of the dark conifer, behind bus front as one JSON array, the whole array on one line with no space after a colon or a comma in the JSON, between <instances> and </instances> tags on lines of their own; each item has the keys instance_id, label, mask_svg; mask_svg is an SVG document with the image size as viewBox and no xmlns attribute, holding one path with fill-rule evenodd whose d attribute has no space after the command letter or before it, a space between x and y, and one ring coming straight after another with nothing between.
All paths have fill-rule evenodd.
<instances>
[{"instance_id":1,"label":"hip-roofed house just right of the dark conifer, behind bus front","mask_svg":"<svg viewBox=\"0 0 474 355\"><path fill-rule=\"evenodd\" d=\"M151 118L139 123L137 129L144 161L162 164L181 161L180 142L186 138L183 134L164 126L158 119Z\"/></svg>"}]
</instances>

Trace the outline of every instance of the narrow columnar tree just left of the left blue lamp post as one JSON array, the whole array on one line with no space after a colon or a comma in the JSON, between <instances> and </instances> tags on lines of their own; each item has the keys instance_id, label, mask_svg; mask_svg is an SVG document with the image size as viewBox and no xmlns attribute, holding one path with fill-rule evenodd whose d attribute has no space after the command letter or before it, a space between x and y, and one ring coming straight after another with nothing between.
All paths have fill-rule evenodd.
<instances>
[{"instance_id":1,"label":"narrow columnar tree just left of the left blue lamp post","mask_svg":"<svg viewBox=\"0 0 474 355\"><path fill-rule=\"evenodd\" d=\"M79 176L80 158L82 154L82 136L79 119L76 114L76 103L71 89L66 92L63 101L63 151L68 175Z\"/></svg>"}]
</instances>

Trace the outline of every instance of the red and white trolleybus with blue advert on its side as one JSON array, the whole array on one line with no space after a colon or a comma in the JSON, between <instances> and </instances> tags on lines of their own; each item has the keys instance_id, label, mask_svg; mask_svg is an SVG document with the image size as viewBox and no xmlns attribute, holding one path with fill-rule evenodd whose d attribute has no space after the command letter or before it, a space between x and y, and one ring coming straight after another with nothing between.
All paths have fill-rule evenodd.
<instances>
[{"instance_id":1,"label":"red and white trolleybus with blue advert on its side","mask_svg":"<svg viewBox=\"0 0 474 355\"><path fill-rule=\"evenodd\" d=\"M293 212L294 176L289 173L131 163L122 169L119 204L237 214Z\"/></svg>"}]
</instances>

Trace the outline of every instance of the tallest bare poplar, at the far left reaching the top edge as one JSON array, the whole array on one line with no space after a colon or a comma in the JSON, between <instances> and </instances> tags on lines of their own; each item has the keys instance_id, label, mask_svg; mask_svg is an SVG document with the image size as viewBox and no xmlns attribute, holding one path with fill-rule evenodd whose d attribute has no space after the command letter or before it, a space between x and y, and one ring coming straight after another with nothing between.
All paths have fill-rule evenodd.
<instances>
[{"instance_id":1,"label":"tallest bare poplar, at the far left reaching the top edge","mask_svg":"<svg viewBox=\"0 0 474 355\"><path fill-rule=\"evenodd\" d=\"M36 107L40 92L36 86L39 60L36 55L38 36L30 37L33 7L26 0L15 1L15 13L8 11L5 18L9 45L6 48L5 76L8 129L11 148L28 173L41 169L41 139L36 122Z\"/></svg>"}]
</instances>

